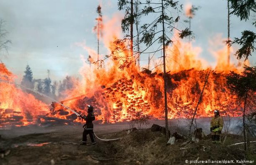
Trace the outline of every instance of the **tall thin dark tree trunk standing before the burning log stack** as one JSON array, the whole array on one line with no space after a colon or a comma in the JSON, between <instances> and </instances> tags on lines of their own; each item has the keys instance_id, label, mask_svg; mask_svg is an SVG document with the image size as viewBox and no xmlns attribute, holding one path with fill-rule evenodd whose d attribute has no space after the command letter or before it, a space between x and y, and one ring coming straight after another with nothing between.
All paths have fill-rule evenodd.
<instances>
[{"instance_id":1,"label":"tall thin dark tree trunk standing before the burning log stack","mask_svg":"<svg viewBox=\"0 0 256 165\"><path fill-rule=\"evenodd\" d=\"M164 28L164 13L163 13L163 0L162 0L162 23L163 23L163 81L164 81L164 107L165 107L165 135L169 139L168 129L168 108L167 108L167 84L166 84L166 71L165 71L165 28Z\"/></svg>"}]
</instances>

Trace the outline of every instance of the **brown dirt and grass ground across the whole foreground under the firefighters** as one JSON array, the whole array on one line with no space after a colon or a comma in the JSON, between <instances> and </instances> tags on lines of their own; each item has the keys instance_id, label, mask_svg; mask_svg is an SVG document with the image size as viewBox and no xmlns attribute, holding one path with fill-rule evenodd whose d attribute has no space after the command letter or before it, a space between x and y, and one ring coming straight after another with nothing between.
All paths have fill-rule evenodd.
<instances>
[{"instance_id":1,"label":"brown dirt and grass ground across the whole foreground under the firefighters","mask_svg":"<svg viewBox=\"0 0 256 165\"><path fill-rule=\"evenodd\" d=\"M152 122L164 125L164 121ZM95 125L98 137L122 139L107 142L97 139L96 145L89 143L88 146L79 145L83 132L81 125L27 126L0 130L0 152L10 150L9 154L0 158L0 165L184 165L189 164L185 160L236 162L245 159L243 145L229 147L230 144L243 142L243 137L239 135L230 134L224 144L218 145L212 144L210 137L206 136L201 142L192 143L182 149L184 140L167 145L164 134L146 129L151 125L152 123L145 126L145 129L127 134L125 129L129 129L128 123L98 124ZM256 164L255 144L251 144L251 151L246 156L247 160L254 160L252 164Z\"/></svg>"}]
</instances>

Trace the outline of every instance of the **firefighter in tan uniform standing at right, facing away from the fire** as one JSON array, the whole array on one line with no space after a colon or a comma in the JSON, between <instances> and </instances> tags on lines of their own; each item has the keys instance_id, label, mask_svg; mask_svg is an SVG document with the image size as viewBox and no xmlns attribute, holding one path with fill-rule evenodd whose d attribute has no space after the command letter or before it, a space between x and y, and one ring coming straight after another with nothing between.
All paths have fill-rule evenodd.
<instances>
[{"instance_id":1,"label":"firefighter in tan uniform standing at right, facing away from the fire","mask_svg":"<svg viewBox=\"0 0 256 165\"><path fill-rule=\"evenodd\" d=\"M214 117L211 120L210 131L212 132L212 143L220 143L220 134L223 128L223 119L220 111L215 110Z\"/></svg>"}]
</instances>

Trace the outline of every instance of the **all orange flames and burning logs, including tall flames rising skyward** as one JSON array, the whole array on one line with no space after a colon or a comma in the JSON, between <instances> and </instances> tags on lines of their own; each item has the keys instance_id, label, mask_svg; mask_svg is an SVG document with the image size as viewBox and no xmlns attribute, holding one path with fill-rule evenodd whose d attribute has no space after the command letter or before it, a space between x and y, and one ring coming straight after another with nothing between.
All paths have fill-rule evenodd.
<instances>
[{"instance_id":1,"label":"all orange flames and burning logs, including tall flames rising skyward","mask_svg":"<svg viewBox=\"0 0 256 165\"><path fill-rule=\"evenodd\" d=\"M120 36L119 30L109 33L110 29L116 29L117 17L103 25L100 6L97 12L99 18L96 18L96 21L100 27L95 26L93 29L98 29L98 42L102 39L112 53L109 57L111 60L102 65L103 61L99 60L99 47L96 52L83 43L77 43L91 54L88 57L89 64L84 63L80 68L80 80L70 79L72 88L63 91L65 98L59 97L57 101L51 99L51 96L48 97L52 101L51 105L40 101L45 95L31 88L33 85L16 84L16 75L8 71L2 63L1 127L80 123L80 119L68 108L78 113L86 113L86 105L89 104L95 106L94 112L98 123L131 121L136 113L151 119L165 119L165 90L168 119L191 119L196 107L196 117L212 116L212 110L216 108L221 109L224 116L241 116L243 105L230 93L225 79L230 70L240 74L241 68L225 60L229 56L226 46L214 52L217 65L212 69L207 66L207 62L197 57L201 48L193 47L191 42L179 39L173 45L166 46L165 57L172 59L166 63L166 71L163 72L162 65L158 65L161 62L158 59L155 60L153 70L145 67L140 70L136 63L132 62L138 58L137 55L131 57L130 50L126 49L129 42L117 40L117 36ZM174 38L176 37L178 38L178 32L175 32ZM231 47L230 50L232 49ZM33 96L38 93L39 97ZM67 107L62 106L62 103Z\"/></svg>"}]
</instances>

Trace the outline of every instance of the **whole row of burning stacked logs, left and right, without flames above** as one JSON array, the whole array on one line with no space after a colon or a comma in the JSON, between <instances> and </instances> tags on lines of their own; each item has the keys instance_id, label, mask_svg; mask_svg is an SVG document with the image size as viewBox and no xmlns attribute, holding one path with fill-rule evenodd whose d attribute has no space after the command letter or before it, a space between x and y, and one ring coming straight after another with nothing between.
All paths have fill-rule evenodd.
<instances>
[{"instance_id":1,"label":"whole row of burning stacked logs, left and right, without flames above","mask_svg":"<svg viewBox=\"0 0 256 165\"><path fill-rule=\"evenodd\" d=\"M183 70L167 72L168 118L191 118L205 83L207 70ZM9 73L10 75L11 73ZM8 77L8 76L7 76ZM33 95L23 93L15 85L1 83L0 127L28 124L77 124L80 118L58 103L49 108ZM99 123L131 121L136 114L143 117L164 119L163 73L149 70L131 76L123 76L110 84L99 84L93 96L67 99L65 106L86 114L88 104L94 106ZM3 91L2 91L3 90ZM12 91L12 92L10 92ZM22 98L22 99L10 99ZM7 101L7 102L6 102ZM8 102L9 101L9 102ZM13 106L15 105L15 106ZM211 116L220 109L222 115L240 116L243 106L231 95L223 73L211 72L199 101L197 116Z\"/></svg>"}]
</instances>

